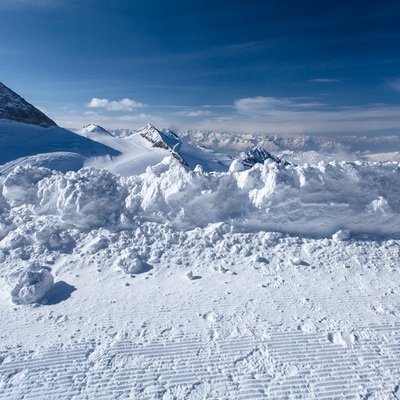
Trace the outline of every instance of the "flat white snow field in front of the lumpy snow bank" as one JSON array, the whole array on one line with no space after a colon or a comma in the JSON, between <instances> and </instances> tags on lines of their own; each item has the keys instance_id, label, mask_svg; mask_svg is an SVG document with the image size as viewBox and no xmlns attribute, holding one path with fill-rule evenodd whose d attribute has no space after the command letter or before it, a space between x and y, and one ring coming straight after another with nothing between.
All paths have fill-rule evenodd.
<instances>
[{"instance_id":1,"label":"flat white snow field in front of the lumpy snow bank","mask_svg":"<svg viewBox=\"0 0 400 400\"><path fill-rule=\"evenodd\" d=\"M113 255L138 238L153 268L131 276ZM398 241L155 223L76 239L72 254L47 261L56 282L76 289L70 297L2 302L3 397L386 399L398 390Z\"/></svg>"}]
</instances>

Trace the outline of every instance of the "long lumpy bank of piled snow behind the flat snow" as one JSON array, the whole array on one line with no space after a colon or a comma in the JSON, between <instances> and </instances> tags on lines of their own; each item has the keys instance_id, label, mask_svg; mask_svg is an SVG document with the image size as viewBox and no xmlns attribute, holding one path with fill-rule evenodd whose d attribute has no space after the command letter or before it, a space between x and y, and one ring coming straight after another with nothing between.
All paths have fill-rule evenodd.
<instances>
[{"instance_id":1,"label":"long lumpy bank of piled snow behind the flat snow","mask_svg":"<svg viewBox=\"0 0 400 400\"><path fill-rule=\"evenodd\" d=\"M399 234L400 168L267 160L246 171L207 173L167 157L142 175L121 177L94 168L63 174L25 166L4 179L0 207L0 248L22 215L48 216L60 229L83 231L130 230L146 222L191 230L223 222L243 232L322 238L347 230L390 238Z\"/></svg>"}]
</instances>

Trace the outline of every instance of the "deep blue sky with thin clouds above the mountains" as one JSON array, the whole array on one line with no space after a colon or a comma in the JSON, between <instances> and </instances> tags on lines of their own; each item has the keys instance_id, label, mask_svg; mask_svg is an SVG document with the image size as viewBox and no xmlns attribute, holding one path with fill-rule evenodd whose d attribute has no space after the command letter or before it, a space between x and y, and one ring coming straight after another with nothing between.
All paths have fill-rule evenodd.
<instances>
[{"instance_id":1,"label":"deep blue sky with thin clouds above the mountains","mask_svg":"<svg viewBox=\"0 0 400 400\"><path fill-rule=\"evenodd\" d=\"M400 133L400 2L1 0L0 81L60 126Z\"/></svg>"}]
</instances>

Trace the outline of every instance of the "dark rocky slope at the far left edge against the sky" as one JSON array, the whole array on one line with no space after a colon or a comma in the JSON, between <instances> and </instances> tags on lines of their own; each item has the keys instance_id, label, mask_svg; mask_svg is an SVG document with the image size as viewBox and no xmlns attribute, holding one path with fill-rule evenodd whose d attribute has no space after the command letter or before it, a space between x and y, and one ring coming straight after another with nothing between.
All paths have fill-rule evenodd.
<instances>
[{"instance_id":1,"label":"dark rocky slope at the far left edge against the sky","mask_svg":"<svg viewBox=\"0 0 400 400\"><path fill-rule=\"evenodd\" d=\"M0 82L0 119L39 125L45 128L57 124Z\"/></svg>"}]
</instances>

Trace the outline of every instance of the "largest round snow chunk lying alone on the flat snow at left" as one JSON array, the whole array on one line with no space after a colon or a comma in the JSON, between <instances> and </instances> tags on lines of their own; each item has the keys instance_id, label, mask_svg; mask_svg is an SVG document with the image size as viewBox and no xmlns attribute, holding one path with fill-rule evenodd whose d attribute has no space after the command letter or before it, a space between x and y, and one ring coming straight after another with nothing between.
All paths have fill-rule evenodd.
<instances>
[{"instance_id":1,"label":"largest round snow chunk lying alone on the flat snow at left","mask_svg":"<svg viewBox=\"0 0 400 400\"><path fill-rule=\"evenodd\" d=\"M53 284L53 275L47 269L23 271L11 290L11 299L15 304L40 303Z\"/></svg>"}]
</instances>

